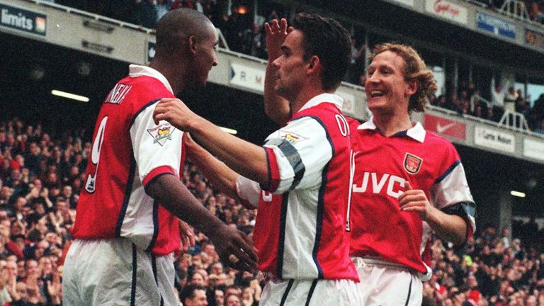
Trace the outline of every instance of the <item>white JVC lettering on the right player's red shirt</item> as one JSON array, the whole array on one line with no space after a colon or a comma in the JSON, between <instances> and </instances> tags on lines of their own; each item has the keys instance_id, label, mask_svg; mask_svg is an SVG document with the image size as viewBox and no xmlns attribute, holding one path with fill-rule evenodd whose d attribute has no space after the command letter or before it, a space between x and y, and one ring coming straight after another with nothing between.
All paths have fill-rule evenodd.
<instances>
[{"instance_id":1,"label":"white JVC lettering on the right player's red shirt","mask_svg":"<svg viewBox=\"0 0 544 306\"><path fill-rule=\"evenodd\" d=\"M356 175L357 176L357 175ZM361 176L357 176L360 178ZM357 178L356 178L357 179ZM378 178L378 174L375 172L365 172L363 174L363 181L358 185L358 181L353 181L353 192L354 193L381 193L384 186L387 185L386 193L387 196L393 198L399 198L399 196L404 192L404 181L402 177L394 176L390 174L383 174ZM368 188L369 182L372 183L372 190Z\"/></svg>"}]
</instances>

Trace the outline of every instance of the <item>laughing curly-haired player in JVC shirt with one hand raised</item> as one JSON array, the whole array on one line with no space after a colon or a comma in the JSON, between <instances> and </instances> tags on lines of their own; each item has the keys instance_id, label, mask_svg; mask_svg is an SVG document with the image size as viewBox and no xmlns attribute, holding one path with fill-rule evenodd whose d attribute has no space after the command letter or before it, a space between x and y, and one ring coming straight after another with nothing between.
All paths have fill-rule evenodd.
<instances>
[{"instance_id":1,"label":"laughing curly-haired player in JVC shirt with one hand raised","mask_svg":"<svg viewBox=\"0 0 544 306\"><path fill-rule=\"evenodd\" d=\"M273 21L266 29L274 56L287 24ZM431 232L462 245L475 231L475 206L453 145L409 118L436 91L432 72L412 47L384 44L374 51L365 77L373 118L362 125L347 118L354 152L350 254L361 305L419 306L421 280L431 273L424 260ZM265 111L283 126L290 105L271 91L277 78L267 67Z\"/></svg>"}]
</instances>

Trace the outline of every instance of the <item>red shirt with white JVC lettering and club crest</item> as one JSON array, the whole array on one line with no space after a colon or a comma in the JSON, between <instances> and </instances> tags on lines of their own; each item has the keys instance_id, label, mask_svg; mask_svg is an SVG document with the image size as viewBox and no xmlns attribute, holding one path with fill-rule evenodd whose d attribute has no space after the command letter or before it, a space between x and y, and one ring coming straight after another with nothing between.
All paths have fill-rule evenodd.
<instances>
[{"instance_id":1,"label":"red shirt with white JVC lettering and club crest","mask_svg":"<svg viewBox=\"0 0 544 306\"><path fill-rule=\"evenodd\" d=\"M438 209L473 203L455 147L421 124L385 137L372 118L362 125L348 118L353 132L354 174L348 226L351 256L376 256L426 273L422 256L431 229L416 212L402 212L404 182L425 191ZM470 234L475 220L467 216Z\"/></svg>"}]
</instances>

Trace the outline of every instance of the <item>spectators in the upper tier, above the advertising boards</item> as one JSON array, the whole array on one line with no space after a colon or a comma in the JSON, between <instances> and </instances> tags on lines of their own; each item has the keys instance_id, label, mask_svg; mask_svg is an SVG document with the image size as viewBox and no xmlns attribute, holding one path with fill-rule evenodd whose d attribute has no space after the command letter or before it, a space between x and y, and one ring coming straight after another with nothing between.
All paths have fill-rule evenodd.
<instances>
[{"instance_id":1,"label":"spectators in the upper tier, above the advertising boards","mask_svg":"<svg viewBox=\"0 0 544 306\"><path fill-rule=\"evenodd\" d=\"M117 18L122 21L134 23L146 28L154 28L159 18L172 8L189 7L204 13L220 28L229 49L235 52L241 52L254 57L266 59L265 31L263 26L253 23L249 20L249 12L239 13L239 7L233 6L230 14L220 8L215 0L150 0L150 1L78 1L78 0L56 0L58 4L74 6L85 11L99 13L111 18ZM499 3L500 2L500 3ZM490 9L497 10L502 6L503 1L492 1L485 3ZM530 13L534 18L540 18L544 7L538 1L531 1L527 4L531 8ZM246 8L245 8L246 9ZM540 12L540 15L539 13ZM268 13L266 20L281 18L276 11ZM539 19L540 20L540 19ZM363 84L363 74L365 71L364 51L365 45L356 41L352 37L353 52L351 67L344 77L344 81L352 84ZM459 89L450 91L446 96L431 96L429 100L433 106L446 108L459 114L473 115L478 118L484 118L499 122L504 114L504 101L514 101L515 106L512 111L523 114L528 123L528 128L535 132L544 133L544 96L539 96L533 101L531 108L530 97L524 97L520 90L514 91L514 88L496 89L499 91L499 98L481 100L479 88L489 86L489 84L473 84L468 81L461 82ZM504 92L500 92L504 91ZM504 100L506 99L506 100ZM514 123L520 127L521 123Z\"/></svg>"}]
</instances>

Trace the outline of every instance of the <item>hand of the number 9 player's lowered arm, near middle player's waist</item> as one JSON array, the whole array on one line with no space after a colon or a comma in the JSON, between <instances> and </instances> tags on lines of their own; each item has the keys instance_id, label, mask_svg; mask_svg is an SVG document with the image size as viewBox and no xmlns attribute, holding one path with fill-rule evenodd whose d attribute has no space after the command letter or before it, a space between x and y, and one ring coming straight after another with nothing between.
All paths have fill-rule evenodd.
<instances>
[{"instance_id":1,"label":"hand of the number 9 player's lowered arm, near middle player's waist","mask_svg":"<svg viewBox=\"0 0 544 306\"><path fill-rule=\"evenodd\" d=\"M210 237L220 258L232 268L254 273L257 256L251 240L238 229L222 226Z\"/></svg>"}]
</instances>

